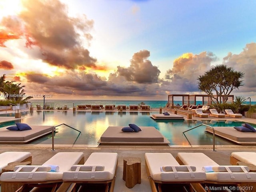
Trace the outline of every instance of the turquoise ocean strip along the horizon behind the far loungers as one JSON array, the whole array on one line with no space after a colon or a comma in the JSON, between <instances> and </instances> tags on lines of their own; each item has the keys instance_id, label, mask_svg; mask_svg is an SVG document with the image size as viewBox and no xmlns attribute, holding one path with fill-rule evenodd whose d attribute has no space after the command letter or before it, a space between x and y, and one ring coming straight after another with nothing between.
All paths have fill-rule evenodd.
<instances>
[{"instance_id":1,"label":"turquoise ocean strip along the horizon behind the far loungers","mask_svg":"<svg viewBox=\"0 0 256 192\"><path fill-rule=\"evenodd\" d=\"M37 104L40 104L41 106L44 105L44 100L30 100L32 105L35 107ZM105 105L134 105L134 104L140 104L141 102L144 102L144 104L149 105L150 108L160 108L164 107L167 104L166 101L155 101L155 100L50 100L45 99L45 104L49 105L50 107L58 108L58 107L64 107L64 105L67 105L68 108L73 108L73 106L81 105L81 104L91 104L91 105L99 105L102 104ZM182 101L174 101L175 105L182 106ZM202 104L202 101L197 101L196 104ZM249 105L249 102L245 102L245 104ZM251 105L255 105L256 102L251 102Z\"/></svg>"}]
</instances>

